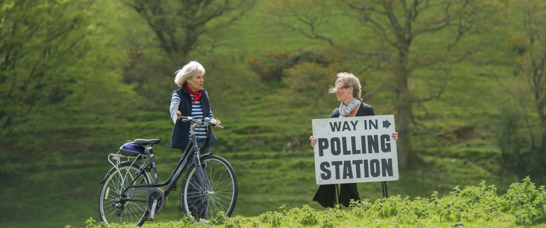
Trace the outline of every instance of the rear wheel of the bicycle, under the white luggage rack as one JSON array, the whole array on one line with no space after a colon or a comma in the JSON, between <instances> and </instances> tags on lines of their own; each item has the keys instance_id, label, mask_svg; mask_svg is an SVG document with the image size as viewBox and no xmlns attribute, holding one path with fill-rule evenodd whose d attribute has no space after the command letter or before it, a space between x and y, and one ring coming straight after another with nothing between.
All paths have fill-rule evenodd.
<instances>
[{"instance_id":1,"label":"rear wheel of the bicycle, under the white luggage rack","mask_svg":"<svg viewBox=\"0 0 546 228\"><path fill-rule=\"evenodd\" d=\"M110 226L112 224L135 224L135 226L141 226L145 218L148 215L146 210L146 203L127 201L123 203L123 207L115 207L120 191L122 191L129 183L136 178L133 184L150 184L152 183L152 177L150 172L144 171L138 177L134 175L141 169L140 164L132 164L130 162L121 163L118 169L112 168L106 177L104 183L100 188L99 195L99 217L105 225ZM144 199L144 195L135 194L127 197ZM117 214L117 213L120 214Z\"/></svg>"}]
</instances>

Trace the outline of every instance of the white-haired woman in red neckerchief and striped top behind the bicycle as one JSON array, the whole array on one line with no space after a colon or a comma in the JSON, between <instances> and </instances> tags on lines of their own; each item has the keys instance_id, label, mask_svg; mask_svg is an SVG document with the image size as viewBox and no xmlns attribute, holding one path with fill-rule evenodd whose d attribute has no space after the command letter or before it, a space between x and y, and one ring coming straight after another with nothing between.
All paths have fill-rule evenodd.
<instances>
[{"instance_id":1,"label":"white-haired woman in red neckerchief and striped top behind the bicycle","mask_svg":"<svg viewBox=\"0 0 546 228\"><path fill-rule=\"evenodd\" d=\"M173 92L170 104L170 115L174 122L173 135L171 136L171 148L180 149L184 152L190 141L190 123L180 120L181 116L190 116L194 119L203 121L205 117L213 119L220 125L221 121L214 119L209 102L209 94L203 88L205 76L205 68L196 61L189 62L182 69L176 71L174 82L180 86ZM218 126L215 126L218 128ZM209 134L208 145L204 145L207 138L206 129L204 127L195 128L195 136L197 136L197 144L199 147L205 147L204 152L209 151L212 143L216 141L216 136L211 131ZM182 199L179 210L183 211ZM195 199L199 200L199 199ZM194 205L207 205L207 202L194 203ZM203 217L206 213L206 206L201 208L191 208L192 214L196 219Z\"/></svg>"}]
</instances>

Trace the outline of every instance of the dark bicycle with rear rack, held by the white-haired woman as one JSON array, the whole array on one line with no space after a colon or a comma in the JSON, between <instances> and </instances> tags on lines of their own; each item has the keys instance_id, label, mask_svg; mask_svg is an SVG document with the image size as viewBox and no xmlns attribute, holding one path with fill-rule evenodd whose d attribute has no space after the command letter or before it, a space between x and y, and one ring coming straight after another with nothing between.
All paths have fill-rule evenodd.
<instances>
[{"instance_id":1,"label":"dark bicycle with rear rack, held by the white-haired woman","mask_svg":"<svg viewBox=\"0 0 546 228\"><path fill-rule=\"evenodd\" d=\"M153 154L152 146L161 142L160 139L127 141L115 154L108 155L108 161L114 167L100 182L99 195L99 217L105 225L141 226L145 221L153 221L163 210L169 193L176 190L176 182L182 174L181 204L186 215L206 223L207 218L216 217L218 213L223 213L224 217L232 214L237 200L233 167L211 152L201 154L207 141L204 147L199 147L194 134L196 127L204 126L208 136L215 123L210 118L203 121L181 118L192 123L191 140L167 181L159 183Z\"/></svg>"}]
</instances>

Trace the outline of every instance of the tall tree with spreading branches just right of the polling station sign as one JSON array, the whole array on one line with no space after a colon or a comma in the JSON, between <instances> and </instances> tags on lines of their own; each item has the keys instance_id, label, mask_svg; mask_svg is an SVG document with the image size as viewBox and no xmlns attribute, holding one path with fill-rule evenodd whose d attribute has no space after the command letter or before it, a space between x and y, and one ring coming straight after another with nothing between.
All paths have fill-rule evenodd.
<instances>
[{"instance_id":1,"label":"tall tree with spreading branches just right of the polling station sign","mask_svg":"<svg viewBox=\"0 0 546 228\"><path fill-rule=\"evenodd\" d=\"M340 0L339 3L345 5L342 11L346 16L365 27L360 32L364 34L360 38L366 40L365 46L351 45L347 55L359 59L361 68L380 69L390 79L388 87L396 95L396 128L401 135L397 142L400 145L397 147L399 164L402 168L408 167L413 157L410 136L415 123L414 106L440 98L445 87L442 81L449 76L450 64L461 62L479 50L474 48L476 46L461 47L461 40L470 34L484 32L481 30L485 26L479 22L489 16L489 11L495 11L495 5L472 0ZM301 13L294 15L296 19L301 17ZM430 44L429 50L417 52L414 44L423 42L430 35L447 39ZM336 44L336 41L332 43ZM432 92L419 93L410 81L416 77L414 71L424 67L437 68L443 75L438 78L444 79L439 80L439 86ZM357 74L360 70L353 69Z\"/></svg>"}]
</instances>

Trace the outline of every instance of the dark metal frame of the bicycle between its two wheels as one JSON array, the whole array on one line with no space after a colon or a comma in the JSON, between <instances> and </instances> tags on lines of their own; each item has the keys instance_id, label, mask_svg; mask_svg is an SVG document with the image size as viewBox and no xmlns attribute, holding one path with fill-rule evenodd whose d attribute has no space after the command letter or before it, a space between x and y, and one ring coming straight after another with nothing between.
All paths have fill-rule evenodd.
<instances>
[{"instance_id":1,"label":"dark metal frame of the bicycle between its two wheels","mask_svg":"<svg viewBox=\"0 0 546 228\"><path fill-rule=\"evenodd\" d=\"M208 135L209 130L210 130L209 128L210 127L206 127L207 135ZM205 139L204 145L207 145L208 141L209 141L209 139L207 137L207 139ZM198 145L197 145L197 136L195 136L195 134L193 134L193 129L192 129L191 141L189 142L188 146L184 150L184 153L180 157L180 160L176 164L176 167L173 170L173 173L171 174L169 179L167 179L167 181L165 181L163 183L158 183L159 181L158 181L158 177L157 177L156 161L155 161L154 156L153 156L153 148L151 148L151 146L150 146L149 153L150 153L150 159L152 160L152 162L150 164L148 164L146 167L144 167L143 170L136 173L135 176L139 176L142 172L144 172L144 170L149 169L149 167L151 165L153 167L155 183L152 183L152 184L133 184L134 181L135 181L135 180L133 180L133 182L129 183L129 185L125 189L123 189L122 192L126 193L129 188L145 188L145 187L163 187L163 186L167 186L167 187L165 187L165 190L164 190L165 197L167 197L169 195L170 191L173 190L173 188L175 187L176 182L178 181L178 179L180 178L182 173L185 173L186 170L188 169L189 164L191 162L191 159L194 156L197 156L197 163L200 163L200 161L199 161L199 155L200 155L199 149L202 150L205 147L206 146L201 147L201 148L198 147ZM198 164L195 164L195 165L198 165ZM138 199L130 199L130 198L127 198L127 197L122 197L120 200L121 201L142 201L142 200L138 200Z\"/></svg>"}]
</instances>

